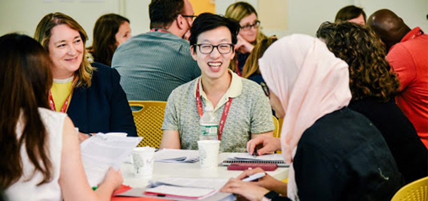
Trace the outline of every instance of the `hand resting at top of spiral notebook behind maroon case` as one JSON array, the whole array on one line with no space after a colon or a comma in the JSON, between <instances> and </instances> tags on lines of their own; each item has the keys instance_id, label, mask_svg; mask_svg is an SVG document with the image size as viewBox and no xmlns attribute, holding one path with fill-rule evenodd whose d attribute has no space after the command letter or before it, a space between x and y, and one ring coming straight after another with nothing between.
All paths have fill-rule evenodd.
<instances>
[{"instance_id":1,"label":"hand resting at top of spiral notebook behind maroon case","mask_svg":"<svg viewBox=\"0 0 428 201\"><path fill-rule=\"evenodd\" d=\"M265 153L281 150L281 142L279 138L258 136L247 142L247 152L253 154L254 149L257 147L257 155L261 156Z\"/></svg>"}]
</instances>

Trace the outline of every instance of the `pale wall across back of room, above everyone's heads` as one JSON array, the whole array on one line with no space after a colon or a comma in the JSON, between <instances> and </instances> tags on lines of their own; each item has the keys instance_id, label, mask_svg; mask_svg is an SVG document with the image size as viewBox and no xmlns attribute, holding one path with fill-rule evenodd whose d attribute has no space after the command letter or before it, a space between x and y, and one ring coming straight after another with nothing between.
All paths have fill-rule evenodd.
<instances>
[{"instance_id":1,"label":"pale wall across back of room, above everyone's heads","mask_svg":"<svg viewBox=\"0 0 428 201\"><path fill-rule=\"evenodd\" d=\"M278 0L276 0L278 1ZM281 1L281 0L279 0ZM410 27L420 26L428 33L428 1L426 0L282 0L284 13L260 13L264 23L287 20L287 29L263 29L266 35L278 37L293 33L315 35L319 25L333 21L337 11L347 5L362 7L367 16L387 8L403 18ZM63 12L78 21L87 31L92 44L92 31L95 21L103 14L117 13L131 22L132 35L149 31L148 5L151 0L0 0L0 35L21 32L32 36L40 19L51 12ZM216 13L224 14L226 8L237 0L216 0ZM266 0L247 0L256 9ZM264 3L263 3L264 2ZM274 2L271 0L271 2ZM277 5L268 5L277 9ZM266 5L263 5L266 10ZM267 9L268 10L268 9ZM278 18L287 15L288 18ZM268 22L272 21L272 22Z\"/></svg>"}]
</instances>

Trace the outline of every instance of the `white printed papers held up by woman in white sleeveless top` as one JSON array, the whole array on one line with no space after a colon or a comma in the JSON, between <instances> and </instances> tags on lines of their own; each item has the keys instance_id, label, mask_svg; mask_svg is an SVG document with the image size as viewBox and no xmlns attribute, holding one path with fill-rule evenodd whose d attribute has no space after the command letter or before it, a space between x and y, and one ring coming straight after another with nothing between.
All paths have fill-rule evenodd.
<instances>
[{"instance_id":1,"label":"white printed papers held up by woman in white sleeveless top","mask_svg":"<svg viewBox=\"0 0 428 201\"><path fill-rule=\"evenodd\" d=\"M89 185L97 186L109 167L118 169L142 137L107 136L98 133L80 144Z\"/></svg>"}]
</instances>

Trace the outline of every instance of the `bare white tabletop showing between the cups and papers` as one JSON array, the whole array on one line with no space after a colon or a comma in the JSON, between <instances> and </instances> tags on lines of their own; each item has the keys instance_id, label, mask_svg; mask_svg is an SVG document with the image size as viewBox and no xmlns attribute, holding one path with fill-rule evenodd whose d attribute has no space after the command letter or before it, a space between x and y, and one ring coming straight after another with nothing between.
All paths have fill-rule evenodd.
<instances>
[{"instance_id":1,"label":"bare white tabletop showing between the cups and papers","mask_svg":"<svg viewBox=\"0 0 428 201\"><path fill-rule=\"evenodd\" d=\"M219 164L226 159L229 153L219 154ZM237 177L243 171L228 170L227 166L218 166L212 169L202 169L199 162L195 163L163 163L155 162L152 177L138 177L133 173L133 165L123 163L120 167L123 175L123 184L131 187L146 187L149 180L160 180L168 177L188 177L188 178L223 178L229 179ZM272 177L282 180L288 177L288 167L278 167L275 171L266 173Z\"/></svg>"}]
</instances>

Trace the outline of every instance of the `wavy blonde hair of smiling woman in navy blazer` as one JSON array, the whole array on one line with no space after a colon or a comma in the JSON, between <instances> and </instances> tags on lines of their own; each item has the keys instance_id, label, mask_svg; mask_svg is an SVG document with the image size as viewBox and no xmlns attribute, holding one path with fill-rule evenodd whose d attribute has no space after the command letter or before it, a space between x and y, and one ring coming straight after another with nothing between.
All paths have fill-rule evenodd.
<instances>
[{"instance_id":1,"label":"wavy blonde hair of smiling woman in navy blazer","mask_svg":"<svg viewBox=\"0 0 428 201\"><path fill-rule=\"evenodd\" d=\"M49 40L52 34L52 28L63 24L79 32L84 46L82 63L80 64L79 69L74 73L75 81L73 84L75 87L89 87L91 86L92 73L95 68L91 66L91 63L88 60L88 51L85 49L88 35L78 22L62 13L47 14L37 25L36 32L34 33L34 39L36 39L43 46L43 48L49 52Z\"/></svg>"}]
</instances>

